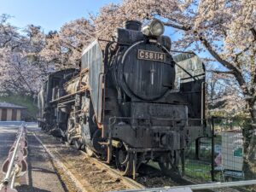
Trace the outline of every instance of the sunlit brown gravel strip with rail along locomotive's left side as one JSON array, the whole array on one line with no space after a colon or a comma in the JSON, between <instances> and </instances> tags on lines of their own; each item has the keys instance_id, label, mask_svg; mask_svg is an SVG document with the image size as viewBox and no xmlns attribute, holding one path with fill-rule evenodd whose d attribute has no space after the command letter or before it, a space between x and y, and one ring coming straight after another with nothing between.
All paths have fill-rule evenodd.
<instances>
[{"instance_id":1,"label":"sunlit brown gravel strip with rail along locomotive's left side","mask_svg":"<svg viewBox=\"0 0 256 192\"><path fill-rule=\"evenodd\" d=\"M64 183L67 181L65 176L71 178L69 180L74 187L69 191L102 192L144 188L142 184L121 176L118 171L100 160L89 158L83 151L74 150L54 137L41 131L34 133L34 136L54 161L56 170L61 178L64 177Z\"/></svg>"}]
</instances>

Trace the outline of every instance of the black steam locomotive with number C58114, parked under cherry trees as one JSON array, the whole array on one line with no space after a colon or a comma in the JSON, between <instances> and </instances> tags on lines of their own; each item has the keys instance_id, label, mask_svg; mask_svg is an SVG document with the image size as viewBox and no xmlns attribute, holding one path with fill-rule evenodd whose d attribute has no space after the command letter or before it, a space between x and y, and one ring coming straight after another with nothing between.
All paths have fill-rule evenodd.
<instances>
[{"instance_id":1,"label":"black steam locomotive with number C58114, parked under cherry trees","mask_svg":"<svg viewBox=\"0 0 256 192\"><path fill-rule=\"evenodd\" d=\"M84 49L79 71L50 74L38 95L42 129L114 158L125 175L148 160L178 172L184 148L208 134L205 67L193 53L171 55L163 32L160 20L143 29L128 20L113 41Z\"/></svg>"}]
</instances>

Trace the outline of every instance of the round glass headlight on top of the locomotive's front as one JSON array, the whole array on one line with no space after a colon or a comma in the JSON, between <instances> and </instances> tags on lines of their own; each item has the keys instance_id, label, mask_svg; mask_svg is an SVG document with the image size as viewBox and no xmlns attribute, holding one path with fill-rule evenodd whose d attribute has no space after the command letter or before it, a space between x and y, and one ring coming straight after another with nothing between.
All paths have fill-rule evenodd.
<instances>
[{"instance_id":1,"label":"round glass headlight on top of the locomotive's front","mask_svg":"<svg viewBox=\"0 0 256 192\"><path fill-rule=\"evenodd\" d=\"M143 34L158 37L165 32L165 26L160 20L152 20L147 26L143 27Z\"/></svg>"}]
</instances>

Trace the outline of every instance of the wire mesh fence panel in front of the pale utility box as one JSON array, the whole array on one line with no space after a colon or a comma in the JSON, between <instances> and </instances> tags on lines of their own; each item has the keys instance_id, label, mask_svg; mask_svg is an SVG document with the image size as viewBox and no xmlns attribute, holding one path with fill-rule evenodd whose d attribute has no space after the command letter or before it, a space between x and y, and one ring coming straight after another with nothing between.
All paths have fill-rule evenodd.
<instances>
[{"instance_id":1,"label":"wire mesh fence panel in front of the pale utility box","mask_svg":"<svg viewBox=\"0 0 256 192\"><path fill-rule=\"evenodd\" d=\"M255 178L255 128L249 119L213 119L214 179L223 182ZM253 156L254 155L254 156ZM250 165L251 167L248 167Z\"/></svg>"}]
</instances>

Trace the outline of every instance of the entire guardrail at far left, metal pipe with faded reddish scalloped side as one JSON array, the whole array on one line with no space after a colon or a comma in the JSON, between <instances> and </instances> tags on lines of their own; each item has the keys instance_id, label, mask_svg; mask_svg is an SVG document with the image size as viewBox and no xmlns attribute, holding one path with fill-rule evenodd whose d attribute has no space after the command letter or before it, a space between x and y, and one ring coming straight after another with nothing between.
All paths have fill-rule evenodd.
<instances>
[{"instance_id":1,"label":"entire guardrail at far left, metal pipe with faded reddish scalloped side","mask_svg":"<svg viewBox=\"0 0 256 192\"><path fill-rule=\"evenodd\" d=\"M0 192L17 192L15 189L15 180L17 178L19 178L20 184L26 184L26 156L26 125L22 123L17 132L15 143L9 149L8 158L3 162L2 172L5 174L5 177L0 184Z\"/></svg>"}]
</instances>

